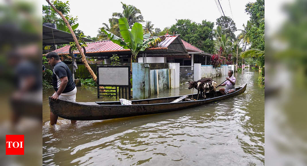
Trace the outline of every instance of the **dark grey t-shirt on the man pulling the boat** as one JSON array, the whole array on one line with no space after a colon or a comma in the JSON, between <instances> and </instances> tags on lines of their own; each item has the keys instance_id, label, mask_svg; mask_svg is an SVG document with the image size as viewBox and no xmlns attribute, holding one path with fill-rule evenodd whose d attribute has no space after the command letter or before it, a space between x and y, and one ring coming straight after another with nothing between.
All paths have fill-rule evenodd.
<instances>
[{"instance_id":1,"label":"dark grey t-shirt on the man pulling the boat","mask_svg":"<svg viewBox=\"0 0 307 166\"><path fill-rule=\"evenodd\" d=\"M68 66L60 61L56 63L56 65L53 68L53 75L52 75L52 85L55 91L59 90L61 85L60 78L67 76L68 83L62 93L67 93L75 89L76 84L74 80L72 79L72 72L68 68Z\"/></svg>"}]
</instances>

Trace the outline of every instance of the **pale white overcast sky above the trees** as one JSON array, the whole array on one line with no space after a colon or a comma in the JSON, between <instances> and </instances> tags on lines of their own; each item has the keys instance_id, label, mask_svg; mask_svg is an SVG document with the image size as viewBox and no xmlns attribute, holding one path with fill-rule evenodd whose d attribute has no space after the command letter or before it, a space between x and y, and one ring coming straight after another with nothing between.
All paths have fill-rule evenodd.
<instances>
[{"instance_id":1,"label":"pale white overcast sky above the trees","mask_svg":"<svg viewBox=\"0 0 307 166\"><path fill-rule=\"evenodd\" d=\"M216 19L223 14L221 10L219 11L218 0L70 0L70 15L78 16L78 29L84 31L85 35L95 37L98 34L98 28L103 26L102 23L108 24L112 13L122 12L120 2L136 6L141 10L145 21L151 21L154 24L153 28L161 30L175 24L176 19L190 19L196 23L207 20L216 23ZM249 15L245 12L245 5L248 2L255 2L255 0L220 0L225 16L231 17L235 21L237 29L243 29L242 25L246 25L249 20ZM48 5L47 2L44 5ZM240 31L235 32L236 35L239 33Z\"/></svg>"}]
</instances>

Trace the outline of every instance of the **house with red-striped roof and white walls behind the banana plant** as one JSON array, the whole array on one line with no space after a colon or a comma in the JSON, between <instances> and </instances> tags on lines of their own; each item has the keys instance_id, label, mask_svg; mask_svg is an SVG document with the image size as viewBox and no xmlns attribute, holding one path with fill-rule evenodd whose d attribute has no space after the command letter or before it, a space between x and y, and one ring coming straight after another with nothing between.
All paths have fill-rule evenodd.
<instances>
[{"instance_id":1,"label":"house with red-striped roof and white walls behind the banana plant","mask_svg":"<svg viewBox=\"0 0 307 166\"><path fill-rule=\"evenodd\" d=\"M69 45L54 50L59 55L69 55ZM85 47L86 56L89 59L104 60L105 64L110 64L110 57L117 54L122 63L130 63L131 52L113 43L111 40L89 42ZM79 52L74 52L75 54ZM185 42L180 35L165 35L165 40L148 48L138 54L138 62L146 63L180 63L180 66L192 66L194 63L202 65L210 64L212 54L205 53L192 44ZM144 58L143 58L144 57Z\"/></svg>"}]
</instances>

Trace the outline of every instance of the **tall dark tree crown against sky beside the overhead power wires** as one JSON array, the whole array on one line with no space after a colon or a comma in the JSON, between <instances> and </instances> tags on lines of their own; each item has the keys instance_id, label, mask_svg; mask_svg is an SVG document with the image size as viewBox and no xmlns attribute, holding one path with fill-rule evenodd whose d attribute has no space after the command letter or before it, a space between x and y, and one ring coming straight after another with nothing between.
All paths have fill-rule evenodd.
<instances>
[{"instance_id":1,"label":"tall dark tree crown against sky beside the overhead power wires","mask_svg":"<svg viewBox=\"0 0 307 166\"><path fill-rule=\"evenodd\" d=\"M216 25L222 28L223 34L229 34L231 41L235 40L235 31L237 31L237 27L235 26L235 22L230 17L221 16L216 19Z\"/></svg>"}]
</instances>

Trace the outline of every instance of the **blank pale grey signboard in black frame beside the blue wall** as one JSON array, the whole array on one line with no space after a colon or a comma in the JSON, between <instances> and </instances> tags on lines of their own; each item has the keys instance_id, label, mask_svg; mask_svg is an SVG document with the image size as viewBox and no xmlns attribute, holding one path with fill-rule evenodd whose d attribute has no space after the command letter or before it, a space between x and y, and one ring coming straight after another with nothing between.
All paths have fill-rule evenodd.
<instances>
[{"instance_id":1,"label":"blank pale grey signboard in black frame beside the blue wall","mask_svg":"<svg viewBox=\"0 0 307 166\"><path fill-rule=\"evenodd\" d=\"M129 85L128 67L99 67L99 85Z\"/></svg>"}]
</instances>

